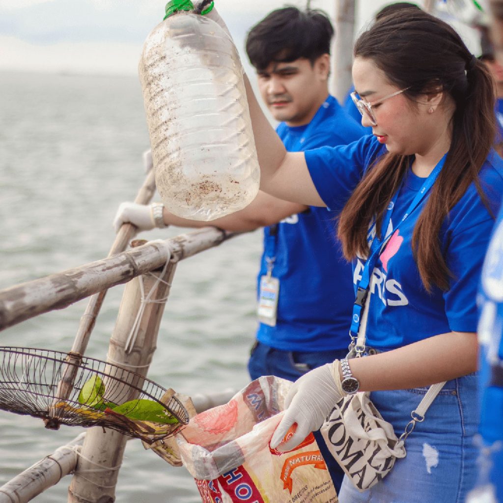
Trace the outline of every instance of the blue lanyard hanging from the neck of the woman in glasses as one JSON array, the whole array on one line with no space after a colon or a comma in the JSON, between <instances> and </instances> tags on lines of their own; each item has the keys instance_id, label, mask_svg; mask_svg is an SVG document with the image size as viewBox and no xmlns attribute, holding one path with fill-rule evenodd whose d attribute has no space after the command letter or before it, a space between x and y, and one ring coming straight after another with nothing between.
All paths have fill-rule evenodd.
<instances>
[{"instance_id":1,"label":"blue lanyard hanging from the neck of the woman in glasses","mask_svg":"<svg viewBox=\"0 0 503 503\"><path fill-rule=\"evenodd\" d=\"M386 232L389 222L391 221L391 214L393 213L393 209L396 204L396 200L398 199L398 193L400 192L401 186L398 188L396 193L393 196L393 199L388 205L388 209L386 211L386 215L384 216L384 220L382 222L382 227L381 227L381 234L382 237L379 238L377 235L377 229L376 229L376 235L374 237L374 240L372 241L372 244L370 246L369 250L369 257L367 261L365 262L365 266L362 271L362 279L358 283L358 289L356 292L356 301L355 304L353 305L353 316L351 319L351 328L350 328L350 336L351 339L354 340L357 335L358 335L358 330L360 328L360 321L361 321L361 312L363 307L365 306L365 301L367 299L367 295L369 292L369 284L370 284L370 278L372 275L372 272L374 271L374 267L377 263L377 260L379 259L379 255L381 254L381 251L383 251L384 247L386 246L387 242L391 238L391 236L396 232L396 230L400 227L400 225L405 222L405 220L410 216L410 214L421 204L423 199L426 197L428 194L429 190L433 187L433 184L437 180L437 177L439 176L440 172L442 171L442 167L444 166L445 158L447 157L447 154L445 154L442 159L437 163L435 166L434 170L430 173L428 178L425 180L425 183L423 184L423 187L417 192L415 195L414 199L410 203L409 207L407 208L407 211L403 215L402 219L398 223L398 225L392 229L389 234L384 235L383 233ZM403 184L403 182L402 182ZM357 348L358 350L362 348Z\"/></svg>"}]
</instances>

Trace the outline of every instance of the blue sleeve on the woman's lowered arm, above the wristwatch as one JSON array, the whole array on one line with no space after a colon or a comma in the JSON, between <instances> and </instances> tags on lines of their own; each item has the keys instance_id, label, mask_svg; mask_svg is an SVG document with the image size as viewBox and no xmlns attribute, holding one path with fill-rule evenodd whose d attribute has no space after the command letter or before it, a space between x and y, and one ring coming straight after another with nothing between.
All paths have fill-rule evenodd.
<instances>
[{"instance_id":1,"label":"blue sleeve on the woman's lowered arm, above the wristwatch","mask_svg":"<svg viewBox=\"0 0 503 503\"><path fill-rule=\"evenodd\" d=\"M496 189L494 193L500 195L503 180L494 171L491 175L490 185ZM486 195L491 210L498 208L501 196L495 200L490 193L486 192ZM450 218L446 263L453 277L449 290L444 293L445 311L451 330L476 332L477 289L494 219L474 185L453 208Z\"/></svg>"}]
</instances>

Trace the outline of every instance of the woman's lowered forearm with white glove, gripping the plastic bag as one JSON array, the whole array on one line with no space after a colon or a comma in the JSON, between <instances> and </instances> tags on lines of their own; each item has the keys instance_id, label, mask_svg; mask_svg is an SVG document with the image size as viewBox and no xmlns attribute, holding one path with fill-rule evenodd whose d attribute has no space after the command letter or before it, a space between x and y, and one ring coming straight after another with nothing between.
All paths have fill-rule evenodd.
<instances>
[{"instance_id":1,"label":"woman's lowered forearm with white glove, gripping the plastic bag","mask_svg":"<svg viewBox=\"0 0 503 503\"><path fill-rule=\"evenodd\" d=\"M475 371L477 337L473 332L449 332L378 355L349 360L361 391L408 389L448 381ZM345 395L338 360L297 379L285 399L286 412L271 439L271 447L289 451L318 430L333 405ZM295 434L285 443L294 424Z\"/></svg>"}]
</instances>

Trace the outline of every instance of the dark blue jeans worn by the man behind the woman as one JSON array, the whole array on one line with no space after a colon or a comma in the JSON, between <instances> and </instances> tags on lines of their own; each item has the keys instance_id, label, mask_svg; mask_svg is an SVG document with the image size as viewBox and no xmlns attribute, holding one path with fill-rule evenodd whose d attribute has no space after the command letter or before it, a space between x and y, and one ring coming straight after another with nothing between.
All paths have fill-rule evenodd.
<instances>
[{"instance_id":1,"label":"dark blue jeans worn by the man behind the woman","mask_svg":"<svg viewBox=\"0 0 503 503\"><path fill-rule=\"evenodd\" d=\"M316 352L282 351L257 342L251 349L248 372L252 380L258 379L260 376L272 375L296 381L309 370L344 358L347 354L347 349ZM314 437L325 460L333 485L339 493L344 471L331 456L319 431L314 432Z\"/></svg>"}]
</instances>

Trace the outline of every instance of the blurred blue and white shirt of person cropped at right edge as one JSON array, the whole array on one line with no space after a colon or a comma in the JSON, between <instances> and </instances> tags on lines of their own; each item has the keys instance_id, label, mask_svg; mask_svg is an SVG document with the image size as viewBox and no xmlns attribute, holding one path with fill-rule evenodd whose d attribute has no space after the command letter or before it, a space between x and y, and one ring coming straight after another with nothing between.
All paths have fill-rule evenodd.
<instances>
[{"instance_id":1,"label":"blurred blue and white shirt of person cropped at right edge","mask_svg":"<svg viewBox=\"0 0 503 503\"><path fill-rule=\"evenodd\" d=\"M482 268L479 305L479 431L484 442L493 445L503 442L503 209L496 219ZM503 498L503 445L492 456L492 482Z\"/></svg>"}]
</instances>

